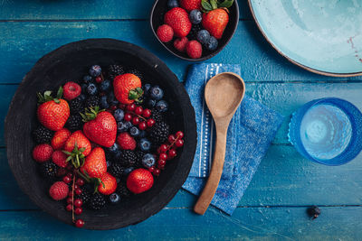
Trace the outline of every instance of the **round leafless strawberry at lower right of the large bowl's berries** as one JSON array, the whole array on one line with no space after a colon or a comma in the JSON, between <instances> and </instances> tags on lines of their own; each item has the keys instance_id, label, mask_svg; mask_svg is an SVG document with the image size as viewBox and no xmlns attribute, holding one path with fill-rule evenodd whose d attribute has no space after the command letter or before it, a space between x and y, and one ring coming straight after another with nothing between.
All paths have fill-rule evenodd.
<instances>
[{"instance_id":1,"label":"round leafless strawberry at lower right of the large bowl's berries","mask_svg":"<svg viewBox=\"0 0 362 241\"><path fill-rule=\"evenodd\" d=\"M149 190L153 186L153 176L146 169L139 168L129 173L127 188L135 194Z\"/></svg>"}]
</instances>

